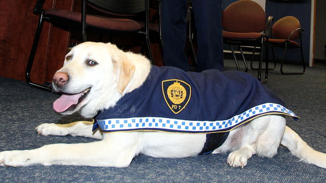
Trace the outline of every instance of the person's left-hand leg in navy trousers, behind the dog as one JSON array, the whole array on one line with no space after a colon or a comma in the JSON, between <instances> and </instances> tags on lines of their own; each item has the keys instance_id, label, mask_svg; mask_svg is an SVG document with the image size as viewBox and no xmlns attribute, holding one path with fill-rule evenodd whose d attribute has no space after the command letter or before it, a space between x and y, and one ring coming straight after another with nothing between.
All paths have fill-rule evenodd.
<instances>
[{"instance_id":1,"label":"person's left-hand leg in navy trousers, behind the dog","mask_svg":"<svg viewBox=\"0 0 326 183\"><path fill-rule=\"evenodd\" d=\"M163 58L167 66L189 70L185 53L187 0L162 0Z\"/></svg>"}]
</instances>

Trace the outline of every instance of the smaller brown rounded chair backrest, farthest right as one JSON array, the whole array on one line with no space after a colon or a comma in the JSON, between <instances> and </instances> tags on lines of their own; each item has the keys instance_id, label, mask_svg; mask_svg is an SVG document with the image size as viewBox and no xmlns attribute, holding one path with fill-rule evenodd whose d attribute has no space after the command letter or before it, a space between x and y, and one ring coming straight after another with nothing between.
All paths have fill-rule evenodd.
<instances>
[{"instance_id":1,"label":"smaller brown rounded chair backrest, farthest right","mask_svg":"<svg viewBox=\"0 0 326 183\"><path fill-rule=\"evenodd\" d=\"M273 38L287 39L291 32L300 27L299 20L294 16L285 16L277 20L272 26ZM291 39L299 38L298 31L294 32Z\"/></svg>"}]
</instances>

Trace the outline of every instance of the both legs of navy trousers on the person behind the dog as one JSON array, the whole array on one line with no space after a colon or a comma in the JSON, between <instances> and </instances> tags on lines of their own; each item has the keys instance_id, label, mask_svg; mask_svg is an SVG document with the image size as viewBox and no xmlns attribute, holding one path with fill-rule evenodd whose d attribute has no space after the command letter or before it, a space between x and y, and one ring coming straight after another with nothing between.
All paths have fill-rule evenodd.
<instances>
[{"instance_id":1,"label":"both legs of navy trousers on the person behind the dog","mask_svg":"<svg viewBox=\"0 0 326 183\"><path fill-rule=\"evenodd\" d=\"M223 70L223 0L192 0L197 31L197 71ZM162 0L164 63L189 70L185 54L187 0Z\"/></svg>"}]
</instances>

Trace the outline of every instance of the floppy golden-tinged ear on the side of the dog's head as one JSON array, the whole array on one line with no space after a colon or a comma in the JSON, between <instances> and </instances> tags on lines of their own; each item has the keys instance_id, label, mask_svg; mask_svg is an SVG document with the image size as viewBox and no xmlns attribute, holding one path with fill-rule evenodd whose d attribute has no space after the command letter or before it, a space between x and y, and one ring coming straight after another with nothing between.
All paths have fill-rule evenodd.
<instances>
[{"instance_id":1,"label":"floppy golden-tinged ear on the side of the dog's head","mask_svg":"<svg viewBox=\"0 0 326 183\"><path fill-rule=\"evenodd\" d=\"M117 89L120 94L124 94L124 90L135 71L135 65L127 58L125 52L118 49L113 44L111 44L110 47L114 71L117 74Z\"/></svg>"}]
</instances>

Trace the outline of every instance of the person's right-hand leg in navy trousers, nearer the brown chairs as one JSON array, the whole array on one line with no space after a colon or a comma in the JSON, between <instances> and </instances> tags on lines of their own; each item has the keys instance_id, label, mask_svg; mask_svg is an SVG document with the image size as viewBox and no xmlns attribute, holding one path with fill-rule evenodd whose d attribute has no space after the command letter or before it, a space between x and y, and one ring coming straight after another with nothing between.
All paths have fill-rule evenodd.
<instances>
[{"instance_id":1,"label":"person's right-hand leg in navy trousers, nearer the brown chairs","mask_svg":"<svg viewBox=\"0 0 326 183\"><path fill-rule=\"evenodd\" d=\"M222 0L192 0L197 30L197 71L223 70Z\"/></svg>"}]
</instances>

